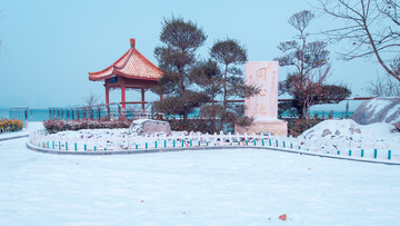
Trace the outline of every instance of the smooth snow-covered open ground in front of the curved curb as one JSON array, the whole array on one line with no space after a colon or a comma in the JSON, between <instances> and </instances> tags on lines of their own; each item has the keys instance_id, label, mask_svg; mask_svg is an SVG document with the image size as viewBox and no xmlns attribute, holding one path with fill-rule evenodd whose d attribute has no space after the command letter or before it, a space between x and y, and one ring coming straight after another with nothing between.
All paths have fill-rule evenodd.
<instances>
[{"instance_id":1,"label":"smooth snow-covered open ground in front of the curved curb","mask_svg":"<svg viewBox=\"0 0 400 226\"><path fill-rule=\"evenodd\" d=\"M27 141L0 143L0 225L400 222L399 166L252 149L59 156Z\"/></svg>"}]
</instances>

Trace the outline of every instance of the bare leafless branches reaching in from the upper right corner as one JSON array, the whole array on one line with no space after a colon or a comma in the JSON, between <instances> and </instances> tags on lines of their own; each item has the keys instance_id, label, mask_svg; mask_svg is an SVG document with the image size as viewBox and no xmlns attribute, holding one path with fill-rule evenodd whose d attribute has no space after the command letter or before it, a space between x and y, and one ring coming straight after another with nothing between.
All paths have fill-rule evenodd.
<instances>
[{"instance_id":1,"label":"bare leafless branches reaching in from the upper right corner","mask_svg":"<svg viewBox=\"0 0 400 226\"><path fill-rule=\"evenodd\" d=\"M374 57L400 82L399 0L319 0L321 10L342 21L341 27L324 31L331 40L349 42L341 58Z\"/></svg>"}]
</instances>

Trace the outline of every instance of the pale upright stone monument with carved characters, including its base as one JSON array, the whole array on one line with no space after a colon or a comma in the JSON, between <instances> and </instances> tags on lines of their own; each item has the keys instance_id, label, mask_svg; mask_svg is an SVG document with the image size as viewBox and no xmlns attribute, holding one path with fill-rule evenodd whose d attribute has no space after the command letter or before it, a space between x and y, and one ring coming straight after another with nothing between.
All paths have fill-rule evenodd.
<instances>
[{"instance_id":1,"label":"pale upright stone monument with carved characters, including its base","mask_svg":"<svg viewBox=\"0 0 400 226\"><path fill-rule=\"evenodd\" d=\"M253 124L249 127L236 127L236 132L288 136L288 124L278 119L278 61L246 63L246 85L258 86L260 94L244 99L244 115L253 117Z\"/></svg>"}]
</instances>

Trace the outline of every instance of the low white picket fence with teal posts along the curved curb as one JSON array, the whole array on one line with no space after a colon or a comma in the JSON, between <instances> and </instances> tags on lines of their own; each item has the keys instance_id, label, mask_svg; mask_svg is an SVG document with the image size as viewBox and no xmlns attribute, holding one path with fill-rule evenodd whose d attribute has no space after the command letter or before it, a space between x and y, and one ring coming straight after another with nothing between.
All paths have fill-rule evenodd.
<instances>
[{"instance_id":1,"label":"low white picket fence with teal posts along the curved curb","mask_svg":"<svg viewBox=\"0 0 400 226\"><path fill-rule=\"evenodd\" d=\"M32 146L59 151L120 151L143 149L173 149L201 147L266 147L292 150L298 153L313 153L346 158L368 158L400 161L400 140L362 138L330 139L319 138L307 140L293 137L264 135L202 135L191 132L182 135L153 135L151 137L136 135L119 135L97 137L96 135L80 135L80 137L51 136L44 130L32 131L29 135Z\"/></svg>"}]
</instances>

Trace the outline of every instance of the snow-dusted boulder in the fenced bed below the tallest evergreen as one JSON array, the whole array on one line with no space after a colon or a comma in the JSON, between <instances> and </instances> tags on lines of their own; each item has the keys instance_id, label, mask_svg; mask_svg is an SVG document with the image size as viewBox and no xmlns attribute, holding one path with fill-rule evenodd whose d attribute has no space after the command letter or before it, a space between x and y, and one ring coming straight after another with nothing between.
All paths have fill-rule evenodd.
<instances>
[{"instance_id":1,"label":"snow-dusted boulder in the fenced bed below the tallest evergreen","mask_svg":"<svg viewBox=\"0 0 400 226\"><path fill-rule=\"evenodd\" d=\"M131 132L137 132L138 135L152 134L152 132L163 132L171 134L171 127L168 121L151 120L151 119L139 119L133 120L129 127Z\"/></svg>"}]
</instances>

